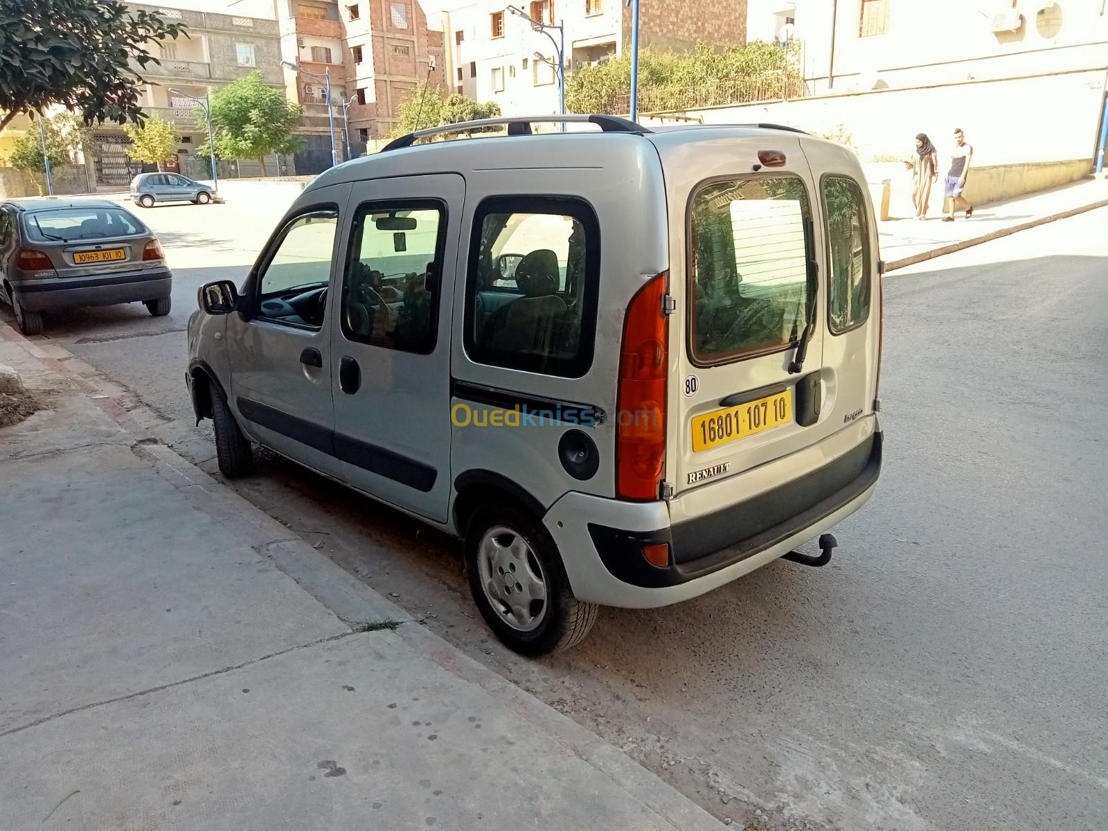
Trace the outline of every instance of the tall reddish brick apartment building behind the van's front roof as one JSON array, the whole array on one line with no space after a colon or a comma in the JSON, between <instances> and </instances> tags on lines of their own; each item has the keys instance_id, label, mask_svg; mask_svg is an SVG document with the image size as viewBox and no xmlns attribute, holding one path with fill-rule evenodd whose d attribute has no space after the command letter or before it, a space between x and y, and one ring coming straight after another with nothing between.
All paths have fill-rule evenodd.
<instances>
[{"instance_id":1,"label":"tall reddish brick apartment building behind the van's front roof","mask_svg":"<svg viewBox=\"0 0 1108 831\"><path fill-rule=\"evenodd\" d=\"M285 60L300 70L285 70L286 86L304 104L304 133L318 170L330 164L328 73L340 157L347 125L358 155L366 142L392 131L400 103L420 84L443 82L442 32L429 28L418 0L277 0L277 9Z\"/></svg>"}]
</instances>

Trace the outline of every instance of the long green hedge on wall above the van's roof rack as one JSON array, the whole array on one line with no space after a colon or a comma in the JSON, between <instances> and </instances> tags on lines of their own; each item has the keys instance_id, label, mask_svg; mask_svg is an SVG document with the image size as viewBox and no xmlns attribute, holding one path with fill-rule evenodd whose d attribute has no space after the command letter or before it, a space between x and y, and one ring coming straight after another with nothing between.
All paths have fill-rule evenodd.
<instances>
[{"instance_id":1,"label":"long green hedge on wall above the van's roof rack","mask_svg":"<svg viewBox=\"0 0 1108 831\"><path fill-rule=\"evenodd\" d=\"M659 112L799 95L798 47L755 42L638 57L639 111ZM629 112L630 54L584 66L566 79L566 109L577 113Z\"/></svg>"}]
</instances>

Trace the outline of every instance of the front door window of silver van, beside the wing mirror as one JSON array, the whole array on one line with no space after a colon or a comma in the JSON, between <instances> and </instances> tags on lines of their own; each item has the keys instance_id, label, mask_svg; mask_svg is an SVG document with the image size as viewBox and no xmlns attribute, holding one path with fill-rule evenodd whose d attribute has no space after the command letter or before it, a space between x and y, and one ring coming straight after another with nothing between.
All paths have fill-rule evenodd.
<instances>
[{"instance_id":1,"label":"front door window of silver van, beside the wing mirror","mask_svg":"<svg viewBox=\"0 0 1108 831\"><path fill-rule=\"evenodd\" d=\"M257 316L295 326L324 325L337 211L312 211L281 230L258 280Z\"/></svg>"}]
</instances>

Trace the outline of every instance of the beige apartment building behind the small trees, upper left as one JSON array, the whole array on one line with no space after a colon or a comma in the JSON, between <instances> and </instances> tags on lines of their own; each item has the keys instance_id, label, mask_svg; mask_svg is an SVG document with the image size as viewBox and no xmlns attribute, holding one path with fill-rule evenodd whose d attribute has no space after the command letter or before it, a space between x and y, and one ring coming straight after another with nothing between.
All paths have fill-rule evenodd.
<instances>
[{"instance_id":1,"label":"beige apartment building behind the small trees, upper left","mask_svg":"<svg viewBox=\"0 0 1108 831\"><path fill-rule=\"evenodd\" d=\"M179 20L188 27L187 38L167 40L151 50L161 60L161 65L153 62L142 68L137 63L133 65L146 79L140 95L143 110L174 122L182 134L177 158L167 166L179 168L186 175L207 177L208 157L196 156L196 148L207 138L206 131L197 129L196 103L187 96L203 98L205 93L214 92L255 70L260 70L267 81L279 85L283 75L277 23L218 12L140 3L127 6L157 12L166 20ZM178 90L179 94L172 90ZM126 155L124 147L129 141L123 129L119 124L104 123L96 125L92 135L96 144L96 184L129 184L141 172L142 165ZM274 157L268 160L267 166L276 172L279 163ZM225 166L229 164L225 163ZM234 167L242 176L260 173L254 160L237 161Z\"/></svg>"}]
</instances>

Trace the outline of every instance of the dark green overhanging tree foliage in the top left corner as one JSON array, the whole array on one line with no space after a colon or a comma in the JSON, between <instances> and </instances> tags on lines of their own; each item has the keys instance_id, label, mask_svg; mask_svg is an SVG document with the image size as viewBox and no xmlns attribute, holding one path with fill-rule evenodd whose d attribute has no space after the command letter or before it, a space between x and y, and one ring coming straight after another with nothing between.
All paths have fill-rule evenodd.
<instances>
[{"instance_id":1,"label":"dark green overhanging tree foliage in the top left corner","mask_svg":"<svg viewBox=\"0 0 1108 831\"><path fill-rule=\"evenodd\" d=\"M18 113L52 104L85 123L138 122L146 45L185 34L184 23L119 0L0 0L0 131Z\"/></svg>"}]
</instances>

